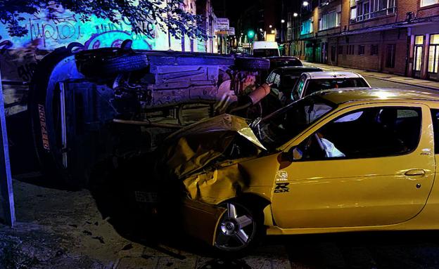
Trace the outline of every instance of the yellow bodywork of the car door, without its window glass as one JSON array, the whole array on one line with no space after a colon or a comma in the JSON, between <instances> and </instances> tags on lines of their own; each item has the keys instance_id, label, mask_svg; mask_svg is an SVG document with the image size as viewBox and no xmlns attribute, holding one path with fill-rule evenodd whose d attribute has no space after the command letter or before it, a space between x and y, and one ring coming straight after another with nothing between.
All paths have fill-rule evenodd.
<instances>
[{"instance_id":1,"label":"yellow bodywork of the car door, without its window glass","mask_svg":"<svg viewBox=\"0 0 439 269\"><path fill-rule=\"evenodd\" d=\"M289 190L273 195L276 224L281 228L389 225L416 216L426 204L435 171L428 107L422 106L422 117L419 145L407 155L298 161L285 167L282 173Z\"/></svg>"}]
</instances>

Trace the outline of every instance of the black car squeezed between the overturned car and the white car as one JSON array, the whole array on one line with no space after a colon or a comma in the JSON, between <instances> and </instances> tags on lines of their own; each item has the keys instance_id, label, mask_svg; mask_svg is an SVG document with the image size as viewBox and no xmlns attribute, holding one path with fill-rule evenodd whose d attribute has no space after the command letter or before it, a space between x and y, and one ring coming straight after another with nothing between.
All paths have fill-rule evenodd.
<instances>
[{"instance_id":1,"label":"black car squeezed between the overturned car and the white car","mask_svg":"<svg viewBox=\"0 0 439 269\"><path fill-rule=\"evenodd\" d=\"M271 85L269 96L265 98L264 114L274 112L285 105L286 96L291 94L295 83L305 72L321 72L319 67L289 66L273 70L267 77L267 84Z\"/></svg>"}]
</instances>

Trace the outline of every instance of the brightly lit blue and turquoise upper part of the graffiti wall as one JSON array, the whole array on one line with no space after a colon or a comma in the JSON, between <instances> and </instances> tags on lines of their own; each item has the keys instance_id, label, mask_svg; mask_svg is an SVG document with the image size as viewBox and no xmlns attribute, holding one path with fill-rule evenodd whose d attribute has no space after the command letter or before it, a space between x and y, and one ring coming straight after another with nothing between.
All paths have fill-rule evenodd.
<instances>
[{"instance_id":1,"label":"brightly lit blue and turquoise upper part of the graffiti wall","mask_svg":"<svg viewBox=\"0 0 439 269\"><path fill-rule=\"evenodd\" d=\"M41 11L35 15L22 15L25 20L20 24L27 28L25 37L10 37L6 25L0 24L2 42L11 48L39 48L53 49L66 46L75 41L88 44L89 48L116 46L120 39L132 39L134 48L153 49L156 45L156 36L160 34L153 22L144 22L146 34L132 32L129 22L121 20L119 24L95 16L87 18L56 6L50 10Z\"/></svg>"}]
</instances>

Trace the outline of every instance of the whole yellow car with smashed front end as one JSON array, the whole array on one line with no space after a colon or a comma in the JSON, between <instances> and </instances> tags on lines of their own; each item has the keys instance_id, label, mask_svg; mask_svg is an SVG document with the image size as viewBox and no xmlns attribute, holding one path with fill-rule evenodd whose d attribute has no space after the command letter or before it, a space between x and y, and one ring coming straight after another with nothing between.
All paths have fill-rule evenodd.
<instances>
[{"instance_id":1,"label":"whole yellow car with smashed front end","mask_svg":"<svg viewBox=\"0 0 439 269\"><path fill-rule=\"evenodd\" d=\"M239 251L262 235L439 228L439 96L319 91L248 123L221 115L164 152L185 229Z\"/></svg>"}]
</instances>

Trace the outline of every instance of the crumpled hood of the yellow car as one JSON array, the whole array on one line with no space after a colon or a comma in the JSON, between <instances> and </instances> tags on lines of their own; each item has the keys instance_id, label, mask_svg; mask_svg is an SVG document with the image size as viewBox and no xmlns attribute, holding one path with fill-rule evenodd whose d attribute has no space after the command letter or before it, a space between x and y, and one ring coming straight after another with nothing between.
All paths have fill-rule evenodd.
<instances>
[{"instance_id":1,"label":"crumpled hood of the yellow car","mask_svg":"<svg viewBox=\"0 0 439 269\"><path fill-rule=\"evenodd\" d=\"M165 171L170 173L168 176L184 178L220 157L224 160L237 159L228 156L227 152L235 144L244 143L243 140L257 148L255 152L266 150L246 119L222 114L172 133L163 143L163 159L160 162L165 164Z\"/></svg>"}]
</instances>

